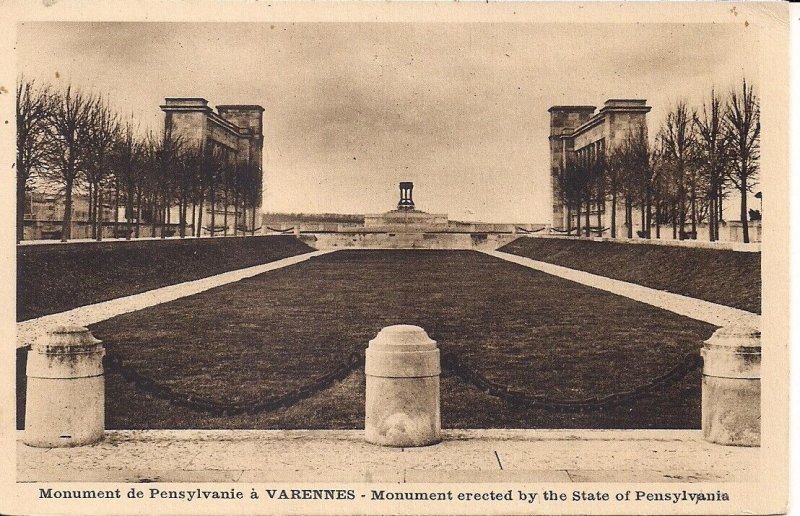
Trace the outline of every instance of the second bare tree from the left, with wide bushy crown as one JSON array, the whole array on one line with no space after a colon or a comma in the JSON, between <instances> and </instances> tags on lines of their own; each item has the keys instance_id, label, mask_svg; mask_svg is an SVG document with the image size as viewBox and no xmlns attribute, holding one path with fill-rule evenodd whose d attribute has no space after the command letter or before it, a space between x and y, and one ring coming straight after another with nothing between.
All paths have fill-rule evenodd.
<instances>
[{"instance_id":1,"label":"second bare tree from the left, with wide bushy crown","mask_svg":"<svg viewBox=\"0 0 800 516\"><path fill-rule=\"evenodd\" d=\"M86 134L95 99L67 86L53 97L48 117L50 152L48 167L53 179L64 188L64 217L61 241L72 237L72 194L87 158Z\"/></svg>"}]
</instances>

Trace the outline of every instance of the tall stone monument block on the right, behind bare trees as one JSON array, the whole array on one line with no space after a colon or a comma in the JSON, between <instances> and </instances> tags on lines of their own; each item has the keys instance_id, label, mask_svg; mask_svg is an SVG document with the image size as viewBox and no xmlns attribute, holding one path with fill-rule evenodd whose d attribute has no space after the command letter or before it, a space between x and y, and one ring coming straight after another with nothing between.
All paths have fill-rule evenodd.
<instances>
[{"instance_id":1,"label":"tall stone monument block on the right, behind bare trees","mask_svg":"<svg viewBox=\"0 0 800 516\"><path fill-rule=\"evenodd\" d=\"M550 112L550 174L553 200L552 226L564 229L575 227L577 213L573 213L573 222L567 223L567 210L558 196L558 178L560 171L571 161L591 161L605 153L608 156L613 149L625 141L631 131L643 127L647 130L647 113L650 106L642 99L609 99L595 113L595 106L553 106ZM601 216L609 213L611 203L601 207ZM619 210L620 207L617 207ZM624 211L617 215L617 221L624 221ZM592 220L597 220L597 211L591 213ZM608 224L603 217L604 224Z\"/></svg>"}]
</instances>

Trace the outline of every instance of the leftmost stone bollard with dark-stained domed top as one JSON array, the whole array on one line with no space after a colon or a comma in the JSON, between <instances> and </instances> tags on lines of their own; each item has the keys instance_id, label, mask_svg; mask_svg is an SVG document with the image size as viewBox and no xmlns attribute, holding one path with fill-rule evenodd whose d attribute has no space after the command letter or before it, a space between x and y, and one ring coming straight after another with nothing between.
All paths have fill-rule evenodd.
<instances>
[{"instance_id":1,"label":"leftmost stone bollard with dark-stained domed top","mask_svg":"<svg viewBox=\"0 0 800 516\"><path fill-rule=\"evenodd\" d=\"M28 352L23 441L43 448L96 443L105 430L105 349L81 326L47 337Z\"/></svg>"}]
</instances>

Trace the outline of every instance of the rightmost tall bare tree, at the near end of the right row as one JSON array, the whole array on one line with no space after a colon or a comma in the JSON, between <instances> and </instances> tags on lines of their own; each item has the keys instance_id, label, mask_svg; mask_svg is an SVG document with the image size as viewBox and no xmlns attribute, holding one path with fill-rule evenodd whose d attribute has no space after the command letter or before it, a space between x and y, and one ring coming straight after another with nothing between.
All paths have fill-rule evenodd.
<instances>
[{"instance_id":1,"label":"rightmost tall bare tree, at the near end of the right row","mask_svg":"<svg viewBox=\"0 0 800 516\"><path fill-rule=\"evenodd\" d=\"M744 243L750 242L747 220L747 192L758 178L761 122L758 96L753 85L742 79L741 91L733 90L725 111L725 132L730 142L731 168L728 177L741 197L739 218Z\"/></svg>"}]
</instances>

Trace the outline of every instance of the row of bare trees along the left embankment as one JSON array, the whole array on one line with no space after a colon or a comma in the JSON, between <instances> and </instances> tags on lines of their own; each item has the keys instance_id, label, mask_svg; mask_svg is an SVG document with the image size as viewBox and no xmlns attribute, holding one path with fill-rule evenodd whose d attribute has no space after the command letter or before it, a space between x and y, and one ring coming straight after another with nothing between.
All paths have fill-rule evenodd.
<instances>
[{"instance_id":1,"label":"row of bare trees along the left embankment","mask_svg":"<svg viewBox=\"0 0 800 516\"><path fill-rule=\"evenodd\" d=\"M107 98L71 86L59 90L21 78L16 100L18 241L24 237L26 192L34 185L63 195L62 240L71 236L78 191L88 194L91 235L97 239L103 236L104 205L113 208L114 233L124 232L128 239L148 226L150 236L164 237L176 222L181 237L199 235L207 208L212 236L227 234L229 207L233 234L247 226L255 231L262 193L259 164L238 162L225 147L189 142L170 128L140 134ZM177 221L171 220L174 208Z\"/></svg>"}]
</instances>

